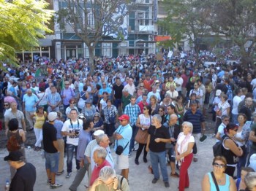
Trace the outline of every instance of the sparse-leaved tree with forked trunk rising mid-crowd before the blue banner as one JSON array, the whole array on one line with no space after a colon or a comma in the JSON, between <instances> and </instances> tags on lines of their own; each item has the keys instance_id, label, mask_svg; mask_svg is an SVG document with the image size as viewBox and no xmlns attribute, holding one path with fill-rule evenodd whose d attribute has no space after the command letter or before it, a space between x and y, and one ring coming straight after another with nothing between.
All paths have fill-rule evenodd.
<instances>
[{"instance_id":1,"label":"sparse-leaved tree with forked trunk rising mid-crowd before the blue banner","mask_svg":"<svg viewBox=\"0 0 256 191\"><path fill-rule=\"evenodd\" d=\"M94 73L94 50L103 36L124 39L128 35L129 0L64 0L57 22L62 31L71 26L89 49L89 65ZM129 7L128 7L129 4Z\"/></svg>"}]
</instances>

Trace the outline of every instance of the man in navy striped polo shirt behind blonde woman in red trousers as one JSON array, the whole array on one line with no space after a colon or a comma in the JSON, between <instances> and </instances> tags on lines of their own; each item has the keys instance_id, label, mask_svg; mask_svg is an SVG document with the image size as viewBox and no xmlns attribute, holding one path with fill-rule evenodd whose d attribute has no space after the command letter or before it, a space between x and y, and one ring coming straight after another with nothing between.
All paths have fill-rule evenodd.
<instances>
[{"instance_id":1,"label":"man in navy striped polo shirt behind blonde woman in red trousers","mask_svg":"<svg viewBox=\"0 0 256 191\"><path fill-rule=\"evenodd\" d=\"M206 132L206 124L205 119L203 117L203 113L200 109L197 109L197 102L191 101L190 109L184 114L184 121L191 122L193 124L193 132L192 135L195 137L195 142L197 145L199 144L199 139L201 137L201 133L204 134ZM198 152L198 149L197 149ZM194 155L194 162L197 162L198 156Z\"/></svg>"}]
</instances>

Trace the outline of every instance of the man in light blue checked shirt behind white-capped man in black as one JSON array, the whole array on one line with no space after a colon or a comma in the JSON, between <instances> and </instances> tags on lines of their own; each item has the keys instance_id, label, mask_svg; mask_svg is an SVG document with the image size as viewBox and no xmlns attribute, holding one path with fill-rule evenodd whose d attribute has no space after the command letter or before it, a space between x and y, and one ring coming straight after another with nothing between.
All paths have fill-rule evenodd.
<instances>
[{"instance_id":1,"label":"man in light blue checked shirt behind white-capped man in black","mask_svg":"<svg viewBox=\"0 0 256 191\"><path fill-rule=\"evenodd\" d=\"M59 106L61 105L61 95L57 93L57 89L54 85L50 86L50 93L47 97L48 112L59 112Z\"/></svg>"}]
</instances>

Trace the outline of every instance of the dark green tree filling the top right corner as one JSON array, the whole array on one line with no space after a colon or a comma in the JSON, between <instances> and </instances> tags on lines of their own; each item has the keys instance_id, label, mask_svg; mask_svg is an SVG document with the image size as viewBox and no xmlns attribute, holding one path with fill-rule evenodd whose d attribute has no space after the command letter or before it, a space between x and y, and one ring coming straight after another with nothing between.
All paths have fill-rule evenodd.
<instances>
[{"instance_id":1,"label":"dark green tree filling the top right corner","mask_svg":"<svg viewBox=\"0 0 256 191\"><path fill-rule=\"evenodd\" d=\"M225 35L241 52L241 63L252 65L256 42L256 0L206 0L205 22L212 31Z\"/></svg>"}]
</instances>

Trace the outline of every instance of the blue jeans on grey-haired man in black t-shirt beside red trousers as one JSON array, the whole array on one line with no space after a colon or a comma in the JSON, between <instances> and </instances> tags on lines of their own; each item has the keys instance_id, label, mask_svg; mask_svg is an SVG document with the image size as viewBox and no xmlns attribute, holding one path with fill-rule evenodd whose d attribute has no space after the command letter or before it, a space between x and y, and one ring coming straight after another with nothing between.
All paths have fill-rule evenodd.
<instances>
[{"instance_id":1,"label":"blue jeans on grey-haired man in black t-shirt beside red trousers","mask_svg":"<svg viewBox=\"0 0 256 191\"><path fill-rule=\"evenodd\" d=\"M150 151L150 160L152 169L154 172L154 178L159 179L159 169L158 169L158 163L160 164L160 169L162 173L162 179L164 182L168 182L168 174L167 174L167 168L166 168L166 159L165 159L166 152L151 152Z\"/></svg>"}]
</instances>

